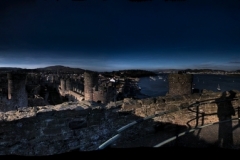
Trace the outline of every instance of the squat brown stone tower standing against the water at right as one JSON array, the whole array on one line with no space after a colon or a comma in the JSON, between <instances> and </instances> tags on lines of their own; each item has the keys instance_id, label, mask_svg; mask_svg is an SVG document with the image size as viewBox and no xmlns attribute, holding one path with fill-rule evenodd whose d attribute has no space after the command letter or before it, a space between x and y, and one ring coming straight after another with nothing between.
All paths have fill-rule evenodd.
<instances>
[{"instance_id":1,"label":"squat brown stone tower standing against the water at right","mask_svg":"<svg viewBox=\"0 0 240 160\"><path fill-rule=\"evenodd\" d=\"M169 95L192 94L192 74L171 73L168 75Z\"/></svg>"}]
</instances>

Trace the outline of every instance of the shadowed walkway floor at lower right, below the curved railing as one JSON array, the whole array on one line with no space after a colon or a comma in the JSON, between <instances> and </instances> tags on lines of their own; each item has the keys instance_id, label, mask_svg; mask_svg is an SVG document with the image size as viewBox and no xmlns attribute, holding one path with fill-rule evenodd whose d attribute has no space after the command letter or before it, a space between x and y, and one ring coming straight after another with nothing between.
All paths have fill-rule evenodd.
<instances>
[{"instance_id":1,"label":"shadowed walkway floor at lower right, below the curved railing","mask_svg":"<svg viewBox=\"0 0 240 160\"><path fill-rule=\"evenodd\" d=\"M229 128L230 127L230 128ZM223 128L223 130L221 130ZM228 129L229 128L229 129ZM159 131L139 138L133 142L115 143L112 148L136 147L189 147L189 148L226 148L240 149L240 123L238 119L217 122L196 129L176 131Z\"/></svg>"}]
</instances>

